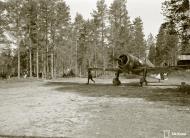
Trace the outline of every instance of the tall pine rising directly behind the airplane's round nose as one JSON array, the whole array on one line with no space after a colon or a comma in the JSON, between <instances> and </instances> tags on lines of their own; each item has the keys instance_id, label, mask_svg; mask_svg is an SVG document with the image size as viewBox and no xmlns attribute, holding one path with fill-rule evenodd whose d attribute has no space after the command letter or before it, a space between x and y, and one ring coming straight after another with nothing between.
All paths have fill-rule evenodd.
<instances>
[{"instance_id":1,"label":"tall pine rising directly behind the airplane's round nose","mask_svg":"<svg viewBox=\"0 0 190 138\"><path fill-rule=\"evenodd\" d=\"M109 9L109 41L112 57L129 52L130 20L126 8L126 0L114 0ZM113 66L115 67L114 60Z\"/></svg>"}]
</instances>

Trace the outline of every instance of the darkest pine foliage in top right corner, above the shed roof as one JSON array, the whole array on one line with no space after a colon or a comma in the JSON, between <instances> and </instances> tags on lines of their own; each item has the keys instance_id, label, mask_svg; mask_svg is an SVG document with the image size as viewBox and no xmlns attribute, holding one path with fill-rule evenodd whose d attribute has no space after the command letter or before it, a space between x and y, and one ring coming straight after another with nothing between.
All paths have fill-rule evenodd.
<instances>
[{"instance_id":1,"label":"darkest pine foliage in top right corner, above the shed roof","mask_svg":"<svg viewBox=\"0 0 190 138\"><path fill-rule=\"evenodd\" d=\"M189 52L190 49L190 4L189 0L165 0L163 15L170 34L178 34L181 39L181 51ZM172 26L172 28L170 28ZM173 29L173 26L175 29Z\"/></svg>"}]
</instances>

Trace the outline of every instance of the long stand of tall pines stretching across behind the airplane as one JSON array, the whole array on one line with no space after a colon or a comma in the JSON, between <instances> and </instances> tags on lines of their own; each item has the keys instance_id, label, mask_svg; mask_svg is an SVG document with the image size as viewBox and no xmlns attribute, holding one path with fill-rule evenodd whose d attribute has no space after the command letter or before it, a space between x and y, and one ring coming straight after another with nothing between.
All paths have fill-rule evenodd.
<instances>
[{"instance_id":1,"label":"long stand of tall pines stretching across behind the airplane","mask_svg":"<svg viewBox=\"0 0 190 138\"><path fill-rule=\"evenodd\" d=\"M172 6L163 3L165 16L173 15L168 5ZM175 64L179 49L189 47L188 27L181 31L178 24L184 23L176 19L172 24L170 16L156 38L150 34L145 40L143 21L140 17L131 21L126 0L114 0L109 7L105 0L97 1L87 20L77 13L71 21L63 0L7 0L0 2L0 15L0 68L18 78L23 74L54 78L69 70L83 76L88 67L116 67L114 57L120 54L144 59L148 50L153 63Z\"/></svg>"}]
</instances>

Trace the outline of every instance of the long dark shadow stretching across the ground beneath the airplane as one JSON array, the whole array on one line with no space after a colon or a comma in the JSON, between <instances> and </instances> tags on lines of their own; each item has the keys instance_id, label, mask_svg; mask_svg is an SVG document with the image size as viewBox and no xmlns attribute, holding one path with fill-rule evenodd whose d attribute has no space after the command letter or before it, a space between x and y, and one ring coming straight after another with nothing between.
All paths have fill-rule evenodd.
<instances>
[{"instance_id":1,"label":"long dark shadow stretching across the ground beneath the airplane","mask_svg":"<svg viewBox=\"0 0 190 138\"><path fill-rule=\"evenodd\" d=\"M78 93L90 97L126 97L143 98L152 102L165 102L169 105L189 106L190 95L180 92L178 88L140 87L138 83L125 83L121 86L112 84L84 84L73 82L48 82L45 86L56 86L60 92ZM155 85L166 86L166 85ZM176 86L176 85L174 85Z\"/></svg>"}]
</instances>

